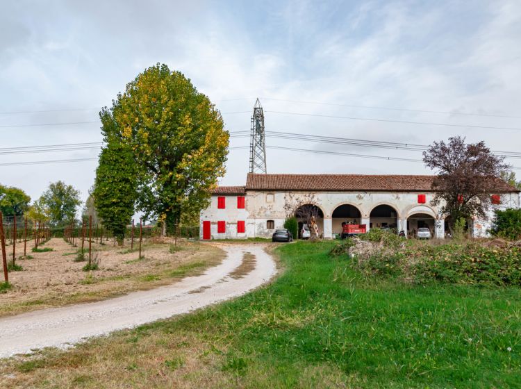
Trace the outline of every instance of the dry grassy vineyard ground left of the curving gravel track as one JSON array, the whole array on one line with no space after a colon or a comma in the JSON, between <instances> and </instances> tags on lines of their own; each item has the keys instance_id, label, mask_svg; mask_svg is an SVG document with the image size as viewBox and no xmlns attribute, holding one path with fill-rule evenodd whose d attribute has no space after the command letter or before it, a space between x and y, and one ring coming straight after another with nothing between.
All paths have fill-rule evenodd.
<instances>
[{"instance_id":1,"label":"dry grassy vineyard ground left of the curving gravel track","mask_svg":"<svg viewBox=\"0 0 521 389\"><path fill-rule=\"evenodd\" d=\"M169 240L145 242L144 258L138 258L134 250L94 244L93 258L97 256L99 268L84 272L85 262L74 261L74 248L62 239L51 239L46 246L53 251L33 253L33 259L19 260L24 271L10 274L12 288L2 293L0 317L156 288L201 274L225 256L221 249L198 242L178 242L180 249L174 252L170 244Z\"/></svg>"}]
</instances>

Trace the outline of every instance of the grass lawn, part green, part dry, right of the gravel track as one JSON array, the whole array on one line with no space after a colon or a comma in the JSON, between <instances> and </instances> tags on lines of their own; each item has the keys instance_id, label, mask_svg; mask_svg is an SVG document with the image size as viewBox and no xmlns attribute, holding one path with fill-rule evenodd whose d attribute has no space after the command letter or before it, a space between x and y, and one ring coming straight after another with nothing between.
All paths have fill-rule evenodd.
<instances>
[{"instance_id":1,"label":"grass lawn, part green, part dry, right of the gravel track","mask_svg":"<svg viewBox=\"0 0 521 389\"><path fill-rule=\"evenodd\" d=\"M69 351L10 388L520 388L521 290L365 278L333 242L281 245L271 285ZM9 377L9 378L6 378Z\"/></svg>"}]
</instances>

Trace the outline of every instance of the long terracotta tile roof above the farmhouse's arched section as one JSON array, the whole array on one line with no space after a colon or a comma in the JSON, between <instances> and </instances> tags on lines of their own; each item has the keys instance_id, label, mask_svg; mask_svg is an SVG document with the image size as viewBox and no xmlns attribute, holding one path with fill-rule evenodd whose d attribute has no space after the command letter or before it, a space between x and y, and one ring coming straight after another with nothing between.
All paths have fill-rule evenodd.
<instances>
[{"instance_id":1,"label":"long terracotta tile roof above the farmhouse's arched section","mask_svg":"<svg viewBox=\"0 0 521 389\"><path fill-rule=\"evenodd\" d=\"M330 190L431 192L434 176L396 174L254 174L249 173L246 190ZM501 181L499 192L519 192Z\"/></svg>"}]
</instances>

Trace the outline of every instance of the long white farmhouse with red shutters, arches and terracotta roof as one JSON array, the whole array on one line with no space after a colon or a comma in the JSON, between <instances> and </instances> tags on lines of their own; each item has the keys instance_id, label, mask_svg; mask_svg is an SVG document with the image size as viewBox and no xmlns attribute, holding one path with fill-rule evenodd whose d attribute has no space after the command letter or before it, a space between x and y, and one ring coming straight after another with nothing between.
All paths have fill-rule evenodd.
<instances>
[{"instance_id":1,"label":"long white farmhouse with red shutters, arches and terracotta roof","mask_svg":"<svg viewBox=\"0 0 521 389\"><path fill-rule=\"evenodd\" d=\"M433 176L364 174L254 174L245 186L220 186L201 212L201 239L270 238L287 217L313 208L319 234L334 238L342 222L365 224L367 230L394 228L410 235L428 227L445 237L447 220L436 206ZM520 208L520 191L502 181L491 194L493 206ZM468 220L474 237L486 236L486 220ZM299 220L304 222L304 220Z\"/></svg>"}]
</instances>

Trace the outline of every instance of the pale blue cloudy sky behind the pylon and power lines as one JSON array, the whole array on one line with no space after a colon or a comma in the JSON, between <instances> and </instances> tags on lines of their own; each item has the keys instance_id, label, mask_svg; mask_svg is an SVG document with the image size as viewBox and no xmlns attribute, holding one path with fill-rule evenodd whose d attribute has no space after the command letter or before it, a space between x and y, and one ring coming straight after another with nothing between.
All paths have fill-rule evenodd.
<instances>
[{"instance_id":1,"label":"pale blue cloudy sky behind the pylon and power lines","mask_svg":"<svg viewBox=\"0 0 521 389\"><path fill-rule=\"evenodd\" d=\"M259 97L267 131L412 144L465 135L495 151L521 151L518 0L1 5L0 183L33 199L58 180L85 199L97 145L23 154L7 148L101 142L99 109L156 63L190 78L231 132L249 130ZM232 147L248 143L231 140ZM270 137L267 146L421 158L419 151ZM231 150L221 183L244 184L248 158L246 149ZM49 160L69 162L5 165ZM520 159L508 163L521 167ZM267 171L429 173L413 161L270 148Z\"/></svg>"}]
</instances>

